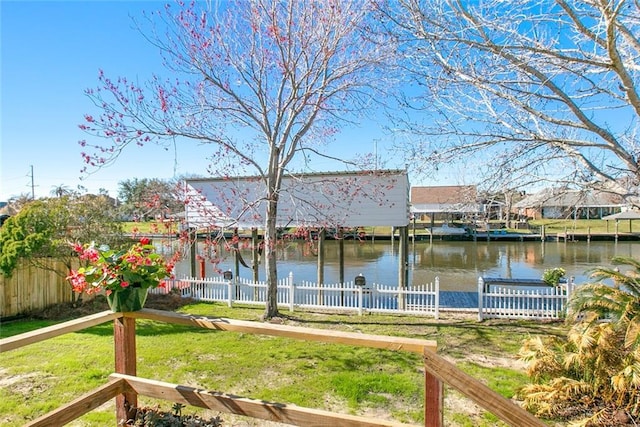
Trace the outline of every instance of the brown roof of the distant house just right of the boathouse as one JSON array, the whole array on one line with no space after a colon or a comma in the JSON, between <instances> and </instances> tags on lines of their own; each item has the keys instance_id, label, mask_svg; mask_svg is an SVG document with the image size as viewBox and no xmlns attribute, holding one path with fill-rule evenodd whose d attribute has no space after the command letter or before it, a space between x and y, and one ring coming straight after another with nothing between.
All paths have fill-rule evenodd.
<instances>
[{"instance_id":1,"label":"brown roof of the distant house just right of the boathouse","mask_svg":"<svg viewBox=\"0 0 640 427\"><path fill-rule=\"evenodd\" d=\"M411 211L415 213L480 212L475 185L411 187Z\"/></svg>"}]
</instances>

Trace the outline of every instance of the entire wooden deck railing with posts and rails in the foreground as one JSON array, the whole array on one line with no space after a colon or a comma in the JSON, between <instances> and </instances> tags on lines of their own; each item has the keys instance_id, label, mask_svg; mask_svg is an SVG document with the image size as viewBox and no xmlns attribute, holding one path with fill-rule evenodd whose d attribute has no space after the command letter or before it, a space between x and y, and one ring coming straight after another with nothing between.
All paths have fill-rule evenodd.
<instances>
[{"instance_id":1,"label":"entire wooden deck railing with posts and rails in the foreground","mask_svg":"<svg viewBox=\"0 0 640 427\"><path fill-rule=\"evenodd\" d=\"M460 371L452 363L438 356L436 354L436 343L431 340L209 318L150 309L131 313L105 311L0 340L0 352L5 352L68 332L86 329L109 321L114 322L115 373L109 376L109 382L27 425L64 425L113 398L116 399L117 419L128 419L132 415L132 410L137 406L138 395L292 425L336 425L346 427L405 425L378 418L337 414L289 404L264 402L139 378L136 376L136 319L149 319L205 329L418 353L423 356L425 367L425 426L441 427L443 425L443 384L445 383L510 425L518 427L544 426L540 420L521 407L500 396L473 377Z\"/></svg>"}]
</instances>

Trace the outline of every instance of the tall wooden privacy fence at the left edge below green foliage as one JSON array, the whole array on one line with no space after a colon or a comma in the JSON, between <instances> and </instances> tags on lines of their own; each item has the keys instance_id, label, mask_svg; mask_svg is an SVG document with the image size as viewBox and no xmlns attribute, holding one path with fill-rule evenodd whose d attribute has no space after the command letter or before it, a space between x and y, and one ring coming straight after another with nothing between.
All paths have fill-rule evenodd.
<instances>
[{"instance_id":1,"label":"tall wooden privacy fence at the left edge below green foliage","mask_svg":"<svg viewBox=\"0 0 640 427\"><path fill-rule=\"evenodd\" d=\"M40 258L36 262L42 267L21 260L11 277L0 275L0 318L73 300L71 286L65 280L68 273L65 264L55 258Z\"/></svg>"}]
</instances>

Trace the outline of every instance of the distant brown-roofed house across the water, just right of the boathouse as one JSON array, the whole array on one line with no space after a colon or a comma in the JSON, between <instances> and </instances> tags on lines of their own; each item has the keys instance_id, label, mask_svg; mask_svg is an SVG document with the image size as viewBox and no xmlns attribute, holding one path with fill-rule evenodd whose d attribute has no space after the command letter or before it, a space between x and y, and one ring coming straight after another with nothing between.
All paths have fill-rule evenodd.
<instances>
[{"instance_id":1,"label":"distant brown-roofed house across the water, just right of the boathouse","mask_svg":"<svg viewBox=\"0 0 640 427\"><path fill-rule=\"evenodd\" d=\"M411 187L411 213L422 221L458 220L483 210L475 185Z\"/></svg>"}]
</instances>

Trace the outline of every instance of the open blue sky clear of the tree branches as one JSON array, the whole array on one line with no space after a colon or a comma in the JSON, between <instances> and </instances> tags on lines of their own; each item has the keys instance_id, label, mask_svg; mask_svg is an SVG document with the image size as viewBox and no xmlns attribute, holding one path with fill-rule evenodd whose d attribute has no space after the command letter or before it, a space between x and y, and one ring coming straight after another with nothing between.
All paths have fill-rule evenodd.
<instances>
[{"instance_id":1,"label":"open blue sky clear of the tree branches","mask_svg":"<svg viewBox=\"0 0 640 427\"><path fill-rule=\"evenodd\" d=\"M110 77L141 82L164 72L157 49L132 22L132 16L163 5L0 0L0 201L31 194L32 167L36 197L50 196L59 185L82 185L92 193L102 188L116 196L118 182L126 179L206 175L207 147L179 146L174 155L149 145L129 147L114 165L80 179L84 164L78 141L89 135L78 125L84 114L98 111L83 92L97 86L99 69ZM351 155L373 152L377 140L379 156L390 160L386 167L404 165L403 159L385 152L385 136L371 123L346 129L336 140L330 149L349 149ZM326 165L326 171L334 170Z\"/></svg>"}]
</instances>

